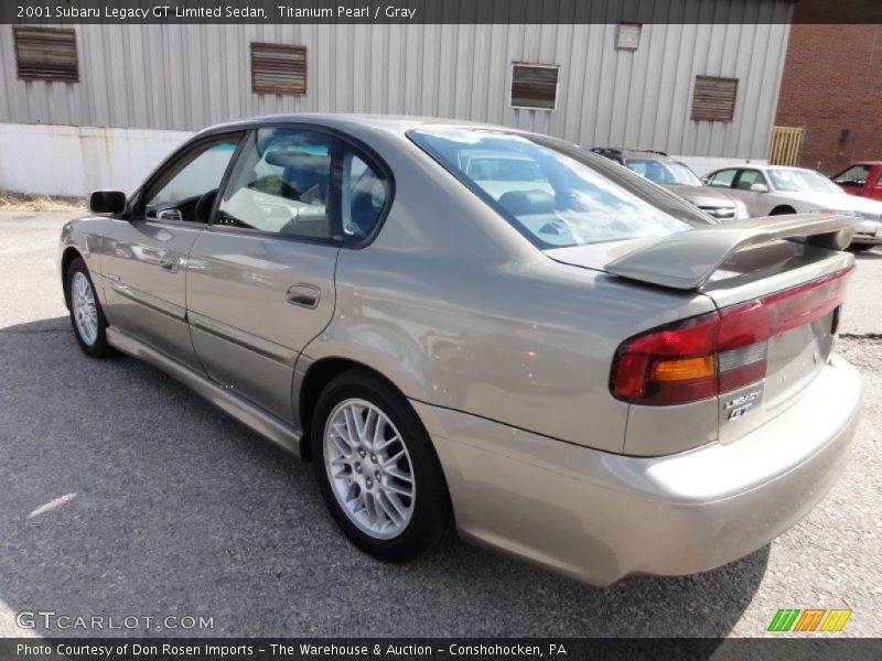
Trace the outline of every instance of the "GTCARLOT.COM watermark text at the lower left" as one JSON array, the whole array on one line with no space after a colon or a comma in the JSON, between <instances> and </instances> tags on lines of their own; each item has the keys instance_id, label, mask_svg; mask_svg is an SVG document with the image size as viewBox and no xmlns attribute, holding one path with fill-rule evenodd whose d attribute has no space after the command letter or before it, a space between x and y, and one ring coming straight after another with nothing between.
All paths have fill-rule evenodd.
<instances>
[{"instance_id":1,"label":"GTCARLOT.COM watermark text at the lower left","mask_svg":"<svg viewBox=\"0 0 882 661\"><path fill-rule=\"evenodd\" d=\"M79 630L194 630L214 629L214 617L203 615L69 615L55 610L20 610L15 624L22 629Z\"/></svg>"}]
</instances>

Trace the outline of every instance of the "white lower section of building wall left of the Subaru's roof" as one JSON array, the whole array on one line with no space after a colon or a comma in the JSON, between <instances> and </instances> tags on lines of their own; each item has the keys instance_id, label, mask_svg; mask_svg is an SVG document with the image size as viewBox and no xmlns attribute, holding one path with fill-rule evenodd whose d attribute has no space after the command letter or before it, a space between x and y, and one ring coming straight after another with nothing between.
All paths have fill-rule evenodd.
<instances>
[{"instance_id":1,"label":"white lower section of building wall left of the Subaru's roof","mask_svg":"<svg viewBox=\"0 0 882 661\"><path fill-rule=\"evenodd\" d=\"M130 193L190 131L0 123L0 189L86 197Z\"/></svg>"}]
</instances>

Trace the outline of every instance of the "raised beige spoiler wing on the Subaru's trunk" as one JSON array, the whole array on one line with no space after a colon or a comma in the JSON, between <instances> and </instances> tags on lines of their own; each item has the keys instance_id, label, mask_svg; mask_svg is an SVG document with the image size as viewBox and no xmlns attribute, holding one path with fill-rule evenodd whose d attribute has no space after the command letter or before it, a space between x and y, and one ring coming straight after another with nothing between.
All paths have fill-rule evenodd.
<instances>
[{"instance_id":1,"label":"raised beige spoiler wing on the Subaru's trunk","mask_svg":"<svg viewBox=\"0 0 882 661\"><path fill-rule=\"evenodd\" d=\"M859 220L848 216L799 214L735 220L670 235L611 261L604 270L630 280L679 290L701 289L734 252L789 239L845 250Z\"/></svg>"}]
</instances>

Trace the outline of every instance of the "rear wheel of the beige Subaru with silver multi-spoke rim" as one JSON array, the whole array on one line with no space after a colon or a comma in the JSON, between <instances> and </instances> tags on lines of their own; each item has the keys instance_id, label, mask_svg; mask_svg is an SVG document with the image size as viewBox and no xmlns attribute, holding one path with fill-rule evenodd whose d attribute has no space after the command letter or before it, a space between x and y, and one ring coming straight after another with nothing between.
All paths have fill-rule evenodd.
<instances>
[{"instance_id":1,"label":"rear wheel of the beige Subaru with silver multi-spoke rim","mask_svg":"<svg viewBox=\"0 0 882 661\"><path fill-rule=\"evenodd\" d=\"M441 465L410 404L383 380L361 370L334 379L311 438L325 503L359 549L402 562L443 539L452 514Z\"/></svg>"}]
</instances>

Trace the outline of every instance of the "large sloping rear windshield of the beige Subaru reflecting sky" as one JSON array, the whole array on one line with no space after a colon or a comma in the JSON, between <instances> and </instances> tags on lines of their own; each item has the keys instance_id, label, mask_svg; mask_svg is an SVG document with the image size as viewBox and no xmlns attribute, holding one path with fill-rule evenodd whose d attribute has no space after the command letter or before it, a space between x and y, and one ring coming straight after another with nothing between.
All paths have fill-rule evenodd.
<instances>
[{"instance_id":1,"label":"large sloping rear windshield of the beige Subaru reflecting sky","mask_svg":"<svg viewBox=\"0 0 882 661\"><path fill-rule=\"evenodd\" d=\"M467 128L413 129L408 137L542 249L711 223L627 169L552 138Z\"/></svg>"}]
</instances>

